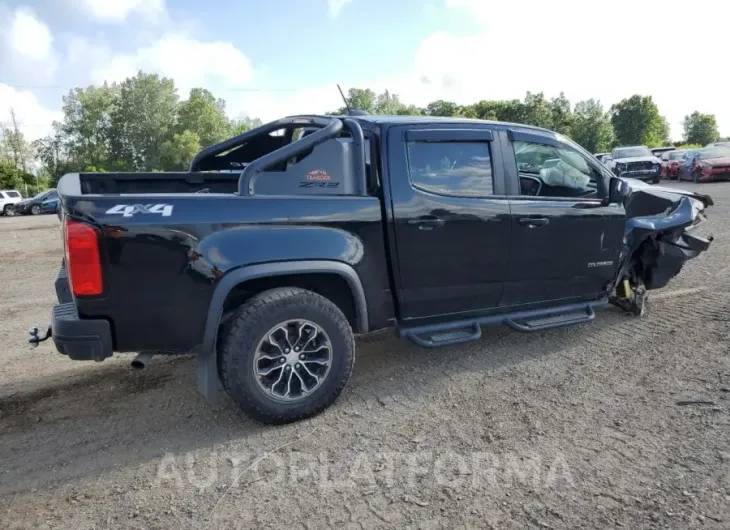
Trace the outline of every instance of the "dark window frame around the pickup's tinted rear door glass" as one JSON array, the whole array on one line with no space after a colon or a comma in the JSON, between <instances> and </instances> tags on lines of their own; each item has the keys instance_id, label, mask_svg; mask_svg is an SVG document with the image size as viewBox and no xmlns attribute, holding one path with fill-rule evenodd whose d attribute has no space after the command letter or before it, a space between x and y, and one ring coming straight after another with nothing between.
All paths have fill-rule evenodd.
<instances>
[{"instance_id":1,"label":"dark window frame around the pickup's tinted rear door glass","mask_svg":"<svg viewBox=\"0 0 730 530\"><path fill-rule=\"evenodd\" d=\"M452 193L440 193L430 190L419 185L413 180L411 174L411 161L408 154L408 144L410 142L419 143L485 143L489 151L489 162L492 169L492 193L487 195L459 195ZM453 199L498 199L505 197L505 188L503 180L503 162L502 151L498 141L495 141L495 134L492 129L470 127L457 127L449 124L446 127L433 128L409 128L405 131L403 137L403 149L405 158L405 167L408 173L408 183L414 190L420 193L426 193L438 197L446 197Z\"/></svg>"}]
</instances>

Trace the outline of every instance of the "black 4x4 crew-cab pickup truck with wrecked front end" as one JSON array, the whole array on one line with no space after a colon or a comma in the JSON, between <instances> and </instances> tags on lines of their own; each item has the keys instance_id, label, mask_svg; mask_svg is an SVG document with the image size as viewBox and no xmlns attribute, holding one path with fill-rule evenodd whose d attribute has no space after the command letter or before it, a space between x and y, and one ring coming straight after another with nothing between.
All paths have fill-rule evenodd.
<instances>
[{"instance_id":1,"label":"black 4x4 crew-cab pickup truck with wrecked front end","mask_svg":"<svg viewBox=\"0 0 730 530\"><path fill-rule=\"evenodd\" d=\"M343 390L354 334L434 347L609 302L642 313L709 247L692 229L712 200L641 184L524 125L285 118L189 172L65 175L59 304L29 340L77 360L196 353L209 400L222 386L261 421L297 420Z\"/></svg>"}]
</instances>

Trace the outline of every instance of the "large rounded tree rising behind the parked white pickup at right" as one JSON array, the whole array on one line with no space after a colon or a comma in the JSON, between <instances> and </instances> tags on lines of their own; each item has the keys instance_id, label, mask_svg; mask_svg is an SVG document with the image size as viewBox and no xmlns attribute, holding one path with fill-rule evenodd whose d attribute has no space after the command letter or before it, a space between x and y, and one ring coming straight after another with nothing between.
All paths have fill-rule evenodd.
<instances>
[{"instance_id":1,"label":"large rounded tree rising behind the parked white pickup at right","mask_svg":"<svg viewBox=\"0 0 730 530\"><path fill-rule=\"evenodd\" d=\"M669 124L651 96L631 96L611 107L611 123L619 145L657 147L669 142Z\"/></svg>"}]
</instances>

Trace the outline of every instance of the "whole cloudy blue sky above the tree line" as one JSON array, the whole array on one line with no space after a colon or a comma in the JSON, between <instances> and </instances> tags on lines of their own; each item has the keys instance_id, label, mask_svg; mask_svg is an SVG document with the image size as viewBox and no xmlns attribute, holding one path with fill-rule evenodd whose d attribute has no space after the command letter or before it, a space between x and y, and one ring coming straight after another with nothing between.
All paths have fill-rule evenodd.
<instances>
[{"instance_id":1,"label":"whole cloudy blue sky above the tree line","mask_svg":"<svg viewBox=\"0 0 730 530\"><path fill-rule=\"evenodd\" d=\"M13 107L37 137L70 88L141 68L175 79L181 97L209 88L231 117L331 110L336 83L420 105L530 90L608 107L642 93L677 139L694 110L727 135L726 85L712 82L725 4L681 5L713 14L697 41L659 0L0 0L0 121Z\"/></svg>"}]
</instances>

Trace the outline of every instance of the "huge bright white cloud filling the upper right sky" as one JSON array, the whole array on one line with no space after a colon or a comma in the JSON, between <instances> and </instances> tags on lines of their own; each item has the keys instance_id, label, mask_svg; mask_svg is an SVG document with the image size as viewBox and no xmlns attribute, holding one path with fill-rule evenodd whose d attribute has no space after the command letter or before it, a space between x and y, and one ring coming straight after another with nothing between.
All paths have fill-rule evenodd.
<instances>
[{"instance_id":1,"label":"huge bright white cloud filling the upper right sky","mask_svg":"<svg viewBox=\"0 0 730 530\"><path fill-rule=\"evenodd\" d=\"M696 0L700 39L692 37L694 19L684 20L659 0L615 0L610 7L584 0L445 5L483 26L475 36L441 34L421 44L417 67L452 99L564 91L574 102L593 97L610 106L638 93L654 97L676 139L694 110L716 114L721 133L730 134L727 90L717 77L730 3Z\"/></svg>"}]
</instances>

